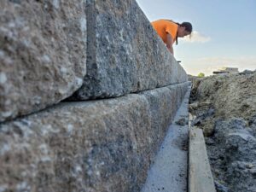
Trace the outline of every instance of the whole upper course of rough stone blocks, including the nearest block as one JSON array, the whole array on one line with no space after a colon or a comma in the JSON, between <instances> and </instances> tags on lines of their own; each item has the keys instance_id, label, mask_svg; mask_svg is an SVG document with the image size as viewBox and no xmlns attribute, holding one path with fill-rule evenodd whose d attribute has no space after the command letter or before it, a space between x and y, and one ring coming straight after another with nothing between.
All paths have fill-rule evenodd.
<instances>
[{"instance_id":1,"label":"whole upper course of rough stone blocks, including the nearest block","mask_svg":"<svg viewBox=\"0 0 256 192\"><path fill-rule=\"evenodd\" d=\"M0 7L0 122L76 90L73 100L88 100L187 81L135 0L3 0Z\"/></svg>"}]
</instances>

